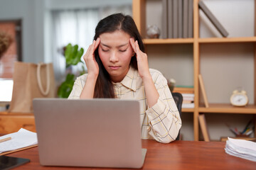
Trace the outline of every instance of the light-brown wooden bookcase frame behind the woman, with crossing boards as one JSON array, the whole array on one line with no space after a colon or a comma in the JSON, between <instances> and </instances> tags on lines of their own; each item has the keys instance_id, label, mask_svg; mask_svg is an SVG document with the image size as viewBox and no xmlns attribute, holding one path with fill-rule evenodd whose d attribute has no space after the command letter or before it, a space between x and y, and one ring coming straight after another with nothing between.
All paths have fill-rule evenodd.
<instances>
[{"instance_id":1,"label":"light-brown wooden bookcase frame behind the woman, with crossing boards","mask_svg":"<svg viewBox=\"0 0 256 170\"><path fill-rule=\"evenodd\" d=\"M238 113L238 114L256 114L256 106L248 105L244 108L238 108L231 106L229 103L209 103L209 108L201 106L199 104L199 82L198 74L200 74L200 45L207 43L254 43L256 42L256 37L245 37L245 38L199 38L199 10L198 1L193 0L193 38L180 38L180 39L144 39L145 45L172 45L172 44L191 44L193 45L193 86L195 94L195 108L184 108L183 112L193 113L193 131L194 140L199 140L199 125L198 125L198 115L199 113ZM145 37L146 33L146 0L133 0L133 17L137 24L139 32L142 37ZM256 0L255 0L256 8ZM256 10L255 10L256 11ZM256 15L255 15L256 21ZM255 22L256 23L256 22ZM255 29L256 35L256 29ZM256 67L256 43L255 43L255 57L254 66ZM256 69L254 71L254 79L256 84ZM256 101L256 86L254 85L254 98ZM255 127L256 128L256 127ZM255 129L256 136L256 129Z\"/></svg>"}]
</instances>

